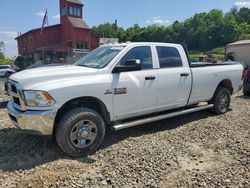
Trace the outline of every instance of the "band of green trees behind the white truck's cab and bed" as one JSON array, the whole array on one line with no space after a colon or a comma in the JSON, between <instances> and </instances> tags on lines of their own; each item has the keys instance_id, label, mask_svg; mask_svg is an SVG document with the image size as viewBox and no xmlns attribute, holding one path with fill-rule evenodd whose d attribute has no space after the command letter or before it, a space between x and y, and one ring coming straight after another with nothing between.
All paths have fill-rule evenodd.
<instances>
[{"instance_id":1,"label":"band of green trees behind the white truck's cab and bed","mask_svg":"<svg viewBox=\"0 0 250 188\"><path fill-rule=\"evenodd\" d=\"M101 24L92 28L92 34L100 37L115 37L115 25ZM183 21L175 21L170 26L138 24L123 29L117 28L120 42L172 42L185 43L191 50L211 50L228 43L250 39L250 9L233 7L224 14L220 10L195 14Z\"/></svg>"}]
</instances>

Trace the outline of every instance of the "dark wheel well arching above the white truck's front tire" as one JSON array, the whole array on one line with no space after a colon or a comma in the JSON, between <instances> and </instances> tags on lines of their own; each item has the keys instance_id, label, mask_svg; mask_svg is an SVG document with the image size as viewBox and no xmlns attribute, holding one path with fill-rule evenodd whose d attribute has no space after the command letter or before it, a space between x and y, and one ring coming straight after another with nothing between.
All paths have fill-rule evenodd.
<instances>
[{"instance_id":1,"label":"dark wheel well arching above the white truck's front tire","mask_svg":"<svg viewBox=\"0 0 250 188\"><path fill-rule=\"evenodd\" d=\"M77 107L87 107L98 112L106 123L110 122L110 114L105 104L95 97L80 97L66 102L57 112L55 118L55 125L59 122L60 118L65 115L69 110ZM55 126L54 126L55 127Z\"/></svg>"}]
</instances>

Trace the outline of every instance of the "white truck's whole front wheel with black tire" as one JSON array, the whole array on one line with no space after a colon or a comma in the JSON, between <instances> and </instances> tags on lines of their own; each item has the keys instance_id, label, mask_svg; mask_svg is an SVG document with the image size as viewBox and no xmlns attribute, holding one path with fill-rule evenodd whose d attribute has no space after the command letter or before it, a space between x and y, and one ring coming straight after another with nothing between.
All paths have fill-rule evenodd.
<instances>
[{"instance_id":1,"label":"white truck's whole front wheel with black tire","mask_svg":"<svg viewBox=\"0 0 250 188\"><path fill-rule=\"evenodd\" d=\"M102 144L104 136L103 118L89 108L75 108L67 112L56 127L57 144L71 157L94 153Z\"/></svg>"}]
</instances>

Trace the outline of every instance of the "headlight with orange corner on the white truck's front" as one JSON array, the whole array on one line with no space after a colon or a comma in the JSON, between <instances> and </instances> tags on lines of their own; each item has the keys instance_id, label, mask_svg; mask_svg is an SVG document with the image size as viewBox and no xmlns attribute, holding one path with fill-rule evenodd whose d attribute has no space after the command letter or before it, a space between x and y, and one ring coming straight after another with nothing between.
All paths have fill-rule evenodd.
<instances>
[{"instance_id":1,"label":"headlight with orange corner on the white truck's front","mask_svg":"<svg viewBox=\"0 0 250 188\"><path fill-rule=\"evenodd\" d=\"M24 91L27 106L48 107L55 104L55 100L45 91Z\"/></svg>"}]
</instances>

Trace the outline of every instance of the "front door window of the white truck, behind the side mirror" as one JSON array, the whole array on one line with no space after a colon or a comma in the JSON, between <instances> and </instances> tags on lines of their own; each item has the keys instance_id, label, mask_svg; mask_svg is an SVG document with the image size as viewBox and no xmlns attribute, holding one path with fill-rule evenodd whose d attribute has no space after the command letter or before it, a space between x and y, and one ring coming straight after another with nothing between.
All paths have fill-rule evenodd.
<instances>
[{"instance_id":1,"label":"front door window of the white truck, behind the side mirror","mask_svg":"<svg viewBox=\"0 0 250 188\"><path fill-rule=\"evenodd\" d=\"M124 65L129 59L139 59L143 70L153 68L151 47L149 46L134 47L123 56L120 65Z\"/></svg>"}]
</instances>

